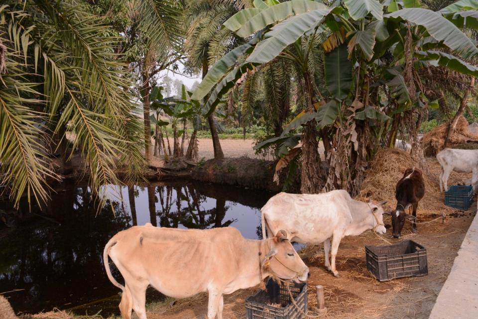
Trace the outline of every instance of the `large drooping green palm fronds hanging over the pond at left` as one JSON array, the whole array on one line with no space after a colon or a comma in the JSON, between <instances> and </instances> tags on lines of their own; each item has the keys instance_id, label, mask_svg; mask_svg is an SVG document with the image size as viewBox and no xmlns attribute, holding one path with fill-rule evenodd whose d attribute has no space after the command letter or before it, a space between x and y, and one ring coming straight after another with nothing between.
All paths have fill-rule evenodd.
<instances>
[{"instance_id":1,"label":"large drooping green palm fronds hanging over the pond at left","mask_svg":"<svg viewBox=\"0 0 478 319\"><path fill-rule=\"evenodd\" d=\"M0 5L0 174L18 203L48 197L59 179L44 141L71 138L90 184L119 183L118 166L136 179L143 168L141 124L129 90L121 38L79 0L2 1ZM67 136L68 132L68 136ZM56 146L54 147L54 149Z\"/></svg>"}]
</instances>

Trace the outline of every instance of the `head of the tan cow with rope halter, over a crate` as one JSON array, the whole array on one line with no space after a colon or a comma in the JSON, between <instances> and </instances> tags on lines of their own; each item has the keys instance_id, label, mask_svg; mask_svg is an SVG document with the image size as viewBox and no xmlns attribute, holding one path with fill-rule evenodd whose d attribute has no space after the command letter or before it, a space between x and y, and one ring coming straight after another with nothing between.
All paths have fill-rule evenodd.
<instances>
[{"instance_id":1,"label":"head of the tan cow with rope halter, over a crate","mask_svg":"<svg viewBox=\"0 0 478 319\"><path fill-rule=\"evenodd\" d=\"M262 262L262 268L281 279L293 279L304 282L310 277L309 268L287 238L284 230L279 230L273 238L266 239L268 253Z\"/></svg>"}]
</instances>

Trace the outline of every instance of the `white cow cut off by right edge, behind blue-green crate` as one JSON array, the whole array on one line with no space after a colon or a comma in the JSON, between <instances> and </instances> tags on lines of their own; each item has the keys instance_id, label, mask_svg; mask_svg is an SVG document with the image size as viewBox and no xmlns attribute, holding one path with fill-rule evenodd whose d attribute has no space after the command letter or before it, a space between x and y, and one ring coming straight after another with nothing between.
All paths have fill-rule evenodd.
<instances>
[{"instance_id":1,"label":"white cow cut off by right edge, behind blue-green crate","mask_svg":"<svg viewBox=\"0 0 478 319\"><path fill-rule=\"evenodd\" d=\"M440 191L448 190L448 177L452 171L473 173L471 183L475 190L478 181L478 150L445 149L437 154L437 160L442 166L440 173Z\"/></svg>"}]
</instances>

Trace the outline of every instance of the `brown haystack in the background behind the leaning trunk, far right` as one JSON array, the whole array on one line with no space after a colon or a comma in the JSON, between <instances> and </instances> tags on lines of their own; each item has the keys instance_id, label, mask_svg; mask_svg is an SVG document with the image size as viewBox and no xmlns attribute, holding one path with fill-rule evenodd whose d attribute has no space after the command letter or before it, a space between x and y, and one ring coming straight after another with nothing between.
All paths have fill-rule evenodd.
<instances>
[{"instance_id":1,"label":"brown haystack in the background behind the leaning trunk, far right","mask_svg":"<svg viewBox=\"0 0 478 319\"><path fill-rule=\"evenodd\" d=\"M443 123L423 136L423 150L426 156L435 156L444 149L448 126L448 123ZM461 116L455 132L450 137L450 146L468 142L478 142L478 134L470 132L467 119Z\"/></svg>"}]
</instances>

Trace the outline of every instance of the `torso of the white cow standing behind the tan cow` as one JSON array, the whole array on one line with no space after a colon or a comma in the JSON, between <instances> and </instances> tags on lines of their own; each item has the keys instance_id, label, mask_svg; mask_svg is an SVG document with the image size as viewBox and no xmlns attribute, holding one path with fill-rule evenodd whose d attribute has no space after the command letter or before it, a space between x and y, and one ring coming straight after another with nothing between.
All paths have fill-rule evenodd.
<instances>
[{"instance_id":1,"label":"torso of the white cow standing behind the tan cow","mask_svg":"<svg viewBox=\"0 0 478 319\"><path fill-rule=\"evenodd\" d=\"M267 201L261 212L274 234L283 229L290 234L291 241L321 243L334 230L352 221L349 200L352 198L345 190L322 194L279 193Z\"/></svg>"}]
</instances>

